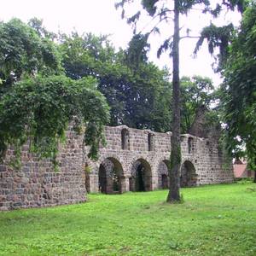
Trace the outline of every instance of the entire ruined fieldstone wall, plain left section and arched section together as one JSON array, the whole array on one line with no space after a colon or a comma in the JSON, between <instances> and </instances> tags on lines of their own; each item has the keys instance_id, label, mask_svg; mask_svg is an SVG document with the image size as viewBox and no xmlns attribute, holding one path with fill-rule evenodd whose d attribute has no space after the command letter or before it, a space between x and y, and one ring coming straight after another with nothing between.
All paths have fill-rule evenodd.
<instances>
[{"instance_id":1,"label":"entire ruined fieldstone wall, plain left section and arched section together","mask_svg":"<svg viewBox=\"0 0 256 256\"><path fill-rule=\"evenodd\" d=\"M38 160L25 146L20 171L7 165L13 151L7 152L0 166L0 210L45 207L86 200L89 192L166 189L171 152L171 132L137 130L125 125L106 126L107 146L101 147L99 160L86 156L82 137L67 132L67 144L60 149L59 172L49 160ZM231 183L231 163L227 165L218 144L191 135L182 136L181 185ZM84 154L85 152L85 154ZM225 169L224 169L225 166ZM85 178L86 177L86 178Z\"/></svg>"}]
</instances>

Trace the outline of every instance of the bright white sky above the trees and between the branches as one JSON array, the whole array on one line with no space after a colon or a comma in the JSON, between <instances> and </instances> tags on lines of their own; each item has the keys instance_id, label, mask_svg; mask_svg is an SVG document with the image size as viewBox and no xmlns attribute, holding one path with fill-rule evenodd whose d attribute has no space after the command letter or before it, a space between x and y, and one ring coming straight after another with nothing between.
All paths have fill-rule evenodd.
<instances>
[{"instance_id":1,"label":"bright white sky above the trees and between the branches","mask_svg":"<svg viewBox=\"0 0 256 256\"><path fill-rule=\"evenodd\" d=\"M13 17L27 21L32 17L44 20L44 26L51 32L71 32L74 29L79 33L93 32L96 35L110 34L109 38L115 47L126 48L131 39L131 26L120 18L120 10L114 8L115 0L0 0L0 20L8 21ZM218 25L235 21L240 16L237 14L225 15ZM143 20L145 23L146 20ZM181 19L181 26L191 26L191 35L198 35L201 27L209 25L210 19L200 12L191 13L188 18ZM196 29L195 29L196 28ZM163 26L162 36L151 38L152 50L149 60L154 61L159 67L172 67L172 60L163 55L160 60L156 58L157 45L164 40L165 36L171 35L172 23ZM184 39L180 45L180 71L181 75L201 75L212 78L217 86L220 79L212 72L212 58L207 53L207 47L201 49L197 58L191 57L195 48L196 39Z\"/></svg>"}]
</instances>

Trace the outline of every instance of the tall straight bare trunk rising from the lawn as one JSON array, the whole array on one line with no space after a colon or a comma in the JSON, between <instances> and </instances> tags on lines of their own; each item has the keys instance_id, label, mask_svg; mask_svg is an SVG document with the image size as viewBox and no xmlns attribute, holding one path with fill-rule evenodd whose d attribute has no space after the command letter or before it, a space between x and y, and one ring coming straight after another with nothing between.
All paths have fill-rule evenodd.
<instances>
[{"instance_id":1,"label":"tall straight bare trunk rising from the lawn","mask_svg":"<svg viewBox=\"0 0 256 256\"><path fill-rule=\"evenodd\" d=\"M180 81L179 81L179 0L174 1L174 34L172 46L172 152L169 170L170 186L167 202L181 200L179 176L181 167L180 148Z\"/></svg>"}]
</instances>

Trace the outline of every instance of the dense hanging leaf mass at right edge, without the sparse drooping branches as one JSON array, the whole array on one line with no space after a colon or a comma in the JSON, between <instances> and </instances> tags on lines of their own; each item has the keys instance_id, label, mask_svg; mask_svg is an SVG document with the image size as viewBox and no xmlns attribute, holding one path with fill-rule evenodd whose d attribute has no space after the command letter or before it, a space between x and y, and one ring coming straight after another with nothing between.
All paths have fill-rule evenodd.
<instances>
[{"instance_id":1,"label":"dense hanging leaf mass at right edge, without the sparse drooping branches","mask_svg":"<svg viewBox=\"0 0 256 256\"><path fill-rule=\"evenodd\" d=\"M247 155L256 170L256 6L243 14L241 27L230 45L224 67L224 123L230 154ZM244 151L244 146L246 151Z\"/></svg>"}]
</instances>

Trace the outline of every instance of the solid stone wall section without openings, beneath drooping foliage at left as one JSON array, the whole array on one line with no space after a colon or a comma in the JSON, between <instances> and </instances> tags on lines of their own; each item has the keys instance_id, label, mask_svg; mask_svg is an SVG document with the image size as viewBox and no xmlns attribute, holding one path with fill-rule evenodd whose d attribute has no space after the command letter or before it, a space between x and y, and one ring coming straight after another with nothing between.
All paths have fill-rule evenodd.
<instances>
[{"instance_id":1,"label":"solid stone wall section without openings, beneath drooping foliage at left","mask_svg":"<svg viewBox=\"0 0 256 256\"><path fill-rule=\"evenodd\" d=\"M67 132L67 144L61 148L59 172L49 160L38 160L28 153L28 146L21 152L21 168L8 165L13 156L9 149L0 166L0 210L20 207L47 207L85 201L82 138Z\"/></svg>"}]
</instances>

